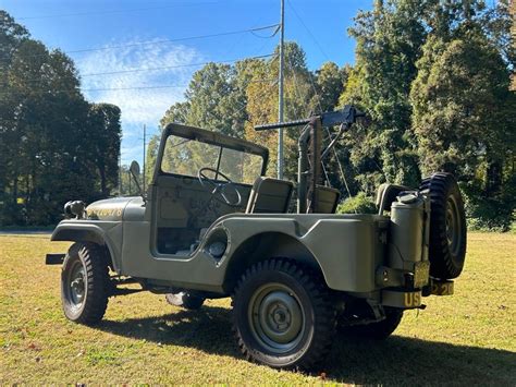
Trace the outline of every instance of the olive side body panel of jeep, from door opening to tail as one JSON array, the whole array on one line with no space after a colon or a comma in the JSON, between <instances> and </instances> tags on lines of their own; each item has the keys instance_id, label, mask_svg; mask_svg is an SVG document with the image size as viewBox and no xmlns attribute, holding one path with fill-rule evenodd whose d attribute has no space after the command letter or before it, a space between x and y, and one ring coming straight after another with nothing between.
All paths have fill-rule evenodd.
<instances>
[{"instance_id":1,"label":"olive side body panel of jeep, from door opening to tail","mask_svg":"<svg viewBox=\"0 0 516 387\"><path fill-rule=\"evenodd\" d=\"M192 254L174 255L151 249L149 222L126 221L124 240L142 243L124 243L122 274L179 288L223 293L228 267L232 259L239 258L235 253L251 238L273 233L299 242L316 259L330 288L370 292L377 288L376 267L384 258L379 234L386 225L384 217L374 215L232 214L217 220ZM220 258L214 258L207 249L213 235L221 231L226 235L223 238L228 238L226 250ZM277 247L271 246L270 252ZM274 255L259 259L271 257Z\"/></svg>"}]
</instances>

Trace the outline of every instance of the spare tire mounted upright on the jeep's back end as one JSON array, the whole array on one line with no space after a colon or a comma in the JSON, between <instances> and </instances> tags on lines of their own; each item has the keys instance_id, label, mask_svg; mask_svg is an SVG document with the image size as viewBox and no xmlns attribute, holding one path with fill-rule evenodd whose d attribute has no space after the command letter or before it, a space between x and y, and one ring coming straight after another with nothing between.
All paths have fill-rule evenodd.
<instances>
[{"instance_id":1,"label":"spare tire mounted upright on the jeep's back end","mask_svg":"<svg viewBox=\"0 0 516 387\"><path fill-rule=\"evenodd\" d=\"M451 173L438 172L419 191L430 197L430 275L456 278L466 257L466 216L457 182Z\"/></svg>"}]
</instances>

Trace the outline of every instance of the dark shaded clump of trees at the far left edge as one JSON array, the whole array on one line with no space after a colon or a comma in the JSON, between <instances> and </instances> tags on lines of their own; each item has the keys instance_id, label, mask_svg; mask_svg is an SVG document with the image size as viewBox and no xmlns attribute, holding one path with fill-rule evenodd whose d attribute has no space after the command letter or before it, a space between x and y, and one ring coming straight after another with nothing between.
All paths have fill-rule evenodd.
<instances>
[{"instance_id":1,"label":"dark shaded clump of trees at the far left edge","mask_svg":"<svg viewBox=\"0 0 516 387\"><path fill-rule=\"evenodd\" d=\"M118 184L121 111L88 102L73 61L0 10L0 225L53 225Z\"/></svg>"}]
</instances>

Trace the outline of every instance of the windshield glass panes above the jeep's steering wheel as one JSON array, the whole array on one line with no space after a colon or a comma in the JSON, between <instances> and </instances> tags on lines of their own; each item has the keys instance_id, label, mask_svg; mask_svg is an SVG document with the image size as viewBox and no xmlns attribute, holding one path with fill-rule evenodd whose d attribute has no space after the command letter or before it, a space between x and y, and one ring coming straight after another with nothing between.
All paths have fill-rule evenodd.
<instances>
[{"instance_id":1,"label":"windshield glass panes above the jeep's steering wheel","mask_svg":"<svg viewBox=\"0 0 516 387\"><path fill-rule=\"evenodd\" d=\"M253 184L261 174L261 156L220 145L170 135L164 146L161 170L165 173L197 177L201 168L212 168L235 183ZM214 173L206 173L216 179Z\"/></svg>"}]
</instances>

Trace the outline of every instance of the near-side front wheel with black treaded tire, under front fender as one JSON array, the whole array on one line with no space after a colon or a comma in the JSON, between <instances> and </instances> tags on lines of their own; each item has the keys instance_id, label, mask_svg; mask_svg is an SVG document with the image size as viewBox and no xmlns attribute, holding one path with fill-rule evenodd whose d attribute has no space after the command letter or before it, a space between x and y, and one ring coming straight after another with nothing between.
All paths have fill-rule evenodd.
<instances>
[{"instance_id":1,"label":"near-side front wheel with black treaded tire, under front fender","mask_svg":"<svg viewBox=\"0 0 516 387\"><path fill-rule=\"evenodd\" d=\"M109 270L105 251L94 243L74 243L63 263L61 301L72 322L94 325L108 306Z\"/></svg>"}]
</instances>

